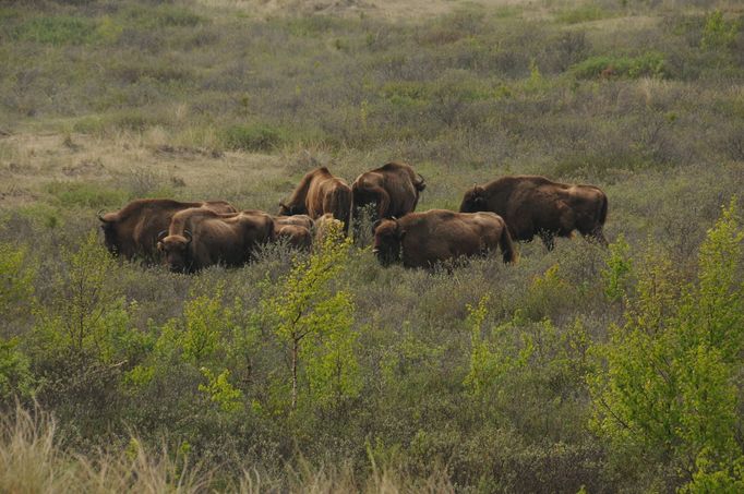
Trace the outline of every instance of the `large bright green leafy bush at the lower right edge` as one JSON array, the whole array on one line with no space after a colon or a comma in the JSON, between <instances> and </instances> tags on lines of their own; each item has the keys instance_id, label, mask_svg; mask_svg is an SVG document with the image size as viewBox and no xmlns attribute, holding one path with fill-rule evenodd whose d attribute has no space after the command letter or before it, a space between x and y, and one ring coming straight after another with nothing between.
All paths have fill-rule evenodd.
<instances>
[{"instance_id":1,"label":"large bright green leafy bush at the lower right edge","mask_svg":"<svg viewBox=\"0 0 744 494\"><path fill-rule=\"evenodd\" d=\"M590 378L596 430L621 449L687 472L694 492L718 482L716 472L741 474L743 241L732 202L700 246L696 284L680 290L663 254L645 260L627 322L601 349L607 369Z\"/></svg>"}]
</instances>

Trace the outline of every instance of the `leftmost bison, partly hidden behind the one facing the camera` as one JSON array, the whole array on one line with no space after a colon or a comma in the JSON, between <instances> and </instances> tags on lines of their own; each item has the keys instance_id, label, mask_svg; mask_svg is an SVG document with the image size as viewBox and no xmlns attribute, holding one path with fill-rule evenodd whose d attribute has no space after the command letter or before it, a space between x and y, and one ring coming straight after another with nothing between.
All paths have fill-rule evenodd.
<instances>
[{"instance_id":1,"label":"leftmost bison, partly hidden behind the one facing the camera","mask_svg":"<svg viewBox=\"0 0 744 494\"><path fill-rule=\"evenodd\" d=\"M225 201L182 203L169 198L142 198L132 201L116 213L101 215L98 219L104 230L104 243L111 254L131 260L141 257L154 262L158 233L167 230L173 215L191 207L206 207L216 213L236 213Z\"/></svg>"}]
</instances>

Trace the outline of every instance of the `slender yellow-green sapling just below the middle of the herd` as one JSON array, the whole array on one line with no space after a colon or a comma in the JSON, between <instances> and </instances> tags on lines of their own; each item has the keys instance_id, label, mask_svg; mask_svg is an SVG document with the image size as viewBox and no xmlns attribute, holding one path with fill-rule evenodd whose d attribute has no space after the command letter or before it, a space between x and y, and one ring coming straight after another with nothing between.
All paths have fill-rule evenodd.
<instances>
[{"instance_id":1,"label":"slender yellow-green sapling just below the middle of the herd","mask_svg":"<svg viewBox=\"0 0 744 494\"><path fill-rule=\"evenodd\" d=\"M332 284L347 263L350 245L341 229L331 226L320 249L296 261L280 280L278 292L263 302L263 313L289 353L292 410L298 407L301 371L308 379L309 398L328 402L359 393L353 302L349 293L335 290Z\"/></svg>"}]
</instances>

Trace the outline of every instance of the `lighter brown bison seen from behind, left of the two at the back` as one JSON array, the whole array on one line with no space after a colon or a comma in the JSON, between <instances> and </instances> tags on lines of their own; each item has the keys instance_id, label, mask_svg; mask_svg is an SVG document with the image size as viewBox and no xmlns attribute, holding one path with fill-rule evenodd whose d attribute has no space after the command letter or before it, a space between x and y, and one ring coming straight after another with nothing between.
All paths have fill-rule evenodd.
<instances>
[{"instance_id":1,"label":"lighter brown bison seen from behind, left of the two at the back","mask_svg":"<svg viewBox=\"0 0 744 494\"><path fill-rule=\"evenodd\" d=\"M326 167L320 167L305 174L292 195L279 203L279 215L308 215L315 219L325 213L344 221L349 228L351 210L351 189Z\"/></svg>"}]
</instances>

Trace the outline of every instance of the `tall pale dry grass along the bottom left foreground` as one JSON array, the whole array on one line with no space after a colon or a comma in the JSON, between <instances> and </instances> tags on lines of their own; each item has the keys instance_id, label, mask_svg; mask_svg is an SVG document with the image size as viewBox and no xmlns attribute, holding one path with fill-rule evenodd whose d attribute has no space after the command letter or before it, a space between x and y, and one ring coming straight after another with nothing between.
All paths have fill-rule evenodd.
<instances>
[{"instance_id":1,"label":"tall pale dry grass along the bottom left foreground","mask_svg":"<svg viewBox=\"0 0 744 494\"><path fill-rule=\"evenodd\" d=\"M307 461L300 461L297 469L287 466L281 478L247 468L241 478L225 479L184 458L173 459L165 448L151 453L136 439L125 450L83 456L60 445L51 414L38 407L29 411L16 406L0 419L0 492L440 494L453 493L455 487L445 469L416 478L373 465L370 474L360 479L350 465L314 468Z\"/></svg>"}]
</instances>

